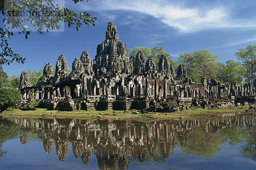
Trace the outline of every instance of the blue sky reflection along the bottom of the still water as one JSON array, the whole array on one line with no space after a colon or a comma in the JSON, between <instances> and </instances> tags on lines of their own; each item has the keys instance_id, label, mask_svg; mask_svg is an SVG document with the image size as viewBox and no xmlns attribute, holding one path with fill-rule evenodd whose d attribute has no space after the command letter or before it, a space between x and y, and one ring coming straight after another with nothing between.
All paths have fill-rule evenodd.
<instances>
[{"instance_id":1,"label":"blue sky reflection along the bottom of the still water","mask_svg":"<svg viewBox=\"0 0 256 170\"><path fill-rule=\"evenodd\" d=\"M212 157L203 158L200 156L182 154L180 147L174 148L174 153L166 159L166 162L159 164L155 161L137 163L131 161L128 166L131 170L252 170L256 163L251 158L245 158L239 154L240 144L231 146L228 142L222 145L221 152L215 153ZM56 155L55 145L51 153L46 153L42 142L31 141L21 144L20 139L10 140L3 143L2 150L7 154L0 158L0 167L3 170L95 170L98 167L98 160L93 154L88 165L84 165L81 158L76 159L73 155L72 144L70 144L67 157L60 161Z\"/></svg>"}]
</instances>

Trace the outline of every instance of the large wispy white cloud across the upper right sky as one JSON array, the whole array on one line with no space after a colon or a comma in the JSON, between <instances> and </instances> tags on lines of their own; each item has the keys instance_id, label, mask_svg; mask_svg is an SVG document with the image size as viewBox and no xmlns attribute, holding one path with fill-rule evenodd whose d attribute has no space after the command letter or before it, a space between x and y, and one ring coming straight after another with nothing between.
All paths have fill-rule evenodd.
<instances>
[{"instance_id":1,"label":"large wispy white cloud across the upper right sky","mask_svg":"<svg viewBox=\"0 0 256 170\"><path fill-rule=\"evenodd\" d=\"M188 7L185 4L170 0L102 0L79 4L79 8L102 13L113 10L139 12L156 17L183 33L216 28L256 28L255 20L231 17L228 7L211 7L207 4Z\"/></svg>"}]
</instances>

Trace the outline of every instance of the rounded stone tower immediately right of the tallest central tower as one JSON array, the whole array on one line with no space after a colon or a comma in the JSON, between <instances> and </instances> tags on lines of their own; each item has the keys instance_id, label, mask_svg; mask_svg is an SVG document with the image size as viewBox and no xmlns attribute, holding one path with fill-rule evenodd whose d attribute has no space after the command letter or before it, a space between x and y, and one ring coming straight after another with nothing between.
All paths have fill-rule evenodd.
<instances>
[{"instance_id":1,"label":"rounded stone tower immediately right of the tallest central tower","mask_svg":"<svg viewBox=\"0 0 256 170\"><path fill-rule=\"evenodd\" d=\"M146 58L143 52L138 51L136 56L131 57L134 75L145 75Z\"/></svg>"}]
</instances>

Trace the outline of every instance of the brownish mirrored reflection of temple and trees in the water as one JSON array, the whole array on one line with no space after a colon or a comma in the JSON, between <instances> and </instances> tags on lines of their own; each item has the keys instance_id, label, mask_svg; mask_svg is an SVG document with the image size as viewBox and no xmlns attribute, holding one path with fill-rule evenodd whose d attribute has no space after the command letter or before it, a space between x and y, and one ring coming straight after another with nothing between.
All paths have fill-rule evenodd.
<instances>
[{"instance_id":1,"label":"brownish mirrored reflection of temple and trees in the water","mask_svg":"<svg viewBox=\"0 0 256 170\"><path fill-rule=\"evenodd\" d=\"M96 154L102 170L128 168L130 161L164 162L176 146L183 154L213 156L224 142L241 142L243 134L255 138L254 115L225 115L203 119L154 121L90 121L79 119L6 118L5 127L19 128L20 142L43 141L46 153L55 150L64 161L72 144L73 154L89 164ZM2 126L1 125L1 126ZM249 130L249 131L248 131ZM248 132L254 132L253 134ZM244 137L244 147L253 147ZM254 144L255 146L255 144ZM255 152L255 150L253 151ZM242 154L242 153L241 153Z\"/></svg>"}]
</instances>

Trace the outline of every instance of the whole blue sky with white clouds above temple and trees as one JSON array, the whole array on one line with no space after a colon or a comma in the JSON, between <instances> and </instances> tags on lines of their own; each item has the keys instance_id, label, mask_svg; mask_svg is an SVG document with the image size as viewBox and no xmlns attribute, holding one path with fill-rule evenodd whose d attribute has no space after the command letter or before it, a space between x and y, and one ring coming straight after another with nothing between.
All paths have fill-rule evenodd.
<instances>
[{"instance_id":1,"label":"whole blue sky with white clouds above temple and trees","mask_svg":"<svg viewBox=\"0 0 256 170\"><path fill-rule=\"evenodd\" d=\"M32 32L27 40L15 35L9 44L26 61L3 66L8 75L43 69L48 62L55 67L60 55L71 67L83 50L94 59L97 45L105 40L108 21L116 24L127 48L163 46L174 61L180 53L205 49L224 63L236 60L239 49L256 44L255 0L92 0L65 1L65 7L87 11L99 18L98 24L79 32L67 25L64 32Z\"/></svg>"}]
</instances>

